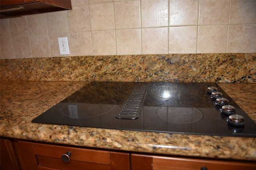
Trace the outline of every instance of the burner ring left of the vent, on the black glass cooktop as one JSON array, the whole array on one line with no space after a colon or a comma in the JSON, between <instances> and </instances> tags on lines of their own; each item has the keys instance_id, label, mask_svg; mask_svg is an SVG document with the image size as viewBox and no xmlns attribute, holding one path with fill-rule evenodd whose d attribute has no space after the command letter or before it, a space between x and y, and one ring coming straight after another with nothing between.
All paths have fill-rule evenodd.
<instances>
[{"instance_id":1,"label":"burner ring left of the vent, on the black glass cooktop","mask_svg":"<svg viewBox=\"0 0 256 170\"><path fill-rule=\"evenodd\" d=\"M83 100L83 99L86 99L86 98L80 98L79 100ZM76 100L74 100L74 101L76 101ZM77 108L77 107L79 107L79 106L77 106L78 103L74 102L74 101L68 102L68 103L64 104L64 106L61 107L61 113L63 115L68 116L70 118L77 118L77 119L78 118L97 117L97 116L100 116L100 115L103 115L103 114L106 114L106 113L112 111L116 107L116 101L114 99L104 97L104 96L98 96L98 102L100 101L99 102L100 104L102 104L102 105L105 104L105 105L108 105L108 106L112 105L112 106L109 107L108 109L106 109L106 107L102 107L101 109L98 108L98 114L96 114L97 112L95 110L90 111L91 108L87 107L89 109L87 111L90 111L90 113L88 113L88 112L86 112L87 108L85 108L85 107L83 109L80 109L80 111L78 111L78 109L79 109L79 108ZM109 102L109 101L111 101L111 102ZM65 107L68 107L68 108L65 108ZM98 107L100 107L100 106L98 106ZM68 111L68 113L65 113L65 111L66 112ZM73 115L72 115L72 113L70 113L72 111L75 112ZM87 116L79 116L79 115L87 115Z\"/></svg>"}]
</instances>

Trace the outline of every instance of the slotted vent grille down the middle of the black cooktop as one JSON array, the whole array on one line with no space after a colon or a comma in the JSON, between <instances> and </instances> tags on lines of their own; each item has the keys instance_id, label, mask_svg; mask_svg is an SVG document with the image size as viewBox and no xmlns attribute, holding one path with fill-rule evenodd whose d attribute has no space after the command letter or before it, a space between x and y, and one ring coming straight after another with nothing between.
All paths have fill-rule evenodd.
<instances>
[{"instance_id":1,"label":"slotted vent grille down the middle of the black cooktop","mask_svg":"<svg viewBox=\"0 0 256 170\"><path fill-rule=\"evenodd\" d=\"M137 119L143 106L148 86L146 84L136 84L120 107L120 111L116 114L118 119Z\"/></svg>"}]
</instances>

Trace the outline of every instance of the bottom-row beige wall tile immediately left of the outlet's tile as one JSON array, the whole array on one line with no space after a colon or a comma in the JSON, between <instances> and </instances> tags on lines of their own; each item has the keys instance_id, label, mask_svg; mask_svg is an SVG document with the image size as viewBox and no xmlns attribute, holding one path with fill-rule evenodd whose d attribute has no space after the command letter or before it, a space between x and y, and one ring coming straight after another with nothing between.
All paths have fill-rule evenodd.
<instances>
[{"instance_id":1,"label":"bottom-row beige wall tile immediately left of the outlet's tile","mask_svg":"<svg viewBox=\"0 0 256 170\"><path fill-rule=\"evenodd\" d=\"M51 57L48 35L30 35L32 55L36 57Z\"/></svg>"}]
</instances>

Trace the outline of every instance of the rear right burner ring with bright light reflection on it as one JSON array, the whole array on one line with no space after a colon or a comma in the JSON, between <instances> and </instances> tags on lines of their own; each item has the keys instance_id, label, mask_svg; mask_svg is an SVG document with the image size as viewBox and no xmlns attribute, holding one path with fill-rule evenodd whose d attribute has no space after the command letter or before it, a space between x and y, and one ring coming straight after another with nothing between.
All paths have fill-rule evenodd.
<instances>
[{"instance_id":1,"label":"rear right burner ring with bright light reflection on it","mask_svg":"<svg viewBox=\"0 0 256 170\"><path fill-rule=\"evenodd\" d=\"M198 95L198 90L192 86L163 84L154 86L149 90L150 94L164 99L186 99L193 98Z\"/></svg>"}]
</instances>

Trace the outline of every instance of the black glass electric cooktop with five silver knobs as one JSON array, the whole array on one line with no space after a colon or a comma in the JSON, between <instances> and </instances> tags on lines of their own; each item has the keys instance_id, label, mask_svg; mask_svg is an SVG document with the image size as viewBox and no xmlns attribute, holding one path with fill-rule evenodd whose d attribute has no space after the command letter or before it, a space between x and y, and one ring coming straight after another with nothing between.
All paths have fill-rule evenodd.
<instances>
[{"instance_id":1,"label":"black glass electric cooktop with five silver knobs","mask_svg":"<svg viewBox=\"0 0 256 170\"><path fill-rule=\"evenodd\" d=\"M256 137L256 123L216 83L91 82L32 122Z\"/></svg>"}]
</instances>

